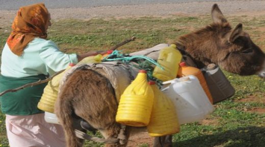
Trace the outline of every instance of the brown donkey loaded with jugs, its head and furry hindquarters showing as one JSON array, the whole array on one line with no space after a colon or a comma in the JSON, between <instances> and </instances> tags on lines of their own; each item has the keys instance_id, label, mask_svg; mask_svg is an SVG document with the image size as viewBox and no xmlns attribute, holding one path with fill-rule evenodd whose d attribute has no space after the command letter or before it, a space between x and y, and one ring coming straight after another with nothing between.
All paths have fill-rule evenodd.
<instances>
[{"instance_id":1,"label":"brown donkey loaded with jugs, its head and furry hindquarters showing","mask_svg":"<svg viewBox=\"0 0 265 147\"><path fill-rule=\"evenodd\" d=\"M177 46L189 54L198 67L216 63L229 72L257 74L264 78L265 55L243 31L242 24L232 29L217 5L213 6L211 15L212 24L180 36ZM113 87L107 78L94 70L75 70L61 88L56 102L56 115L65 130L67 146L82 146L75 137L73 118L84 119L104 138L117 138L121 130L121 125L115 122L117 107ZM126 146L126 141L105 146Z\"/></svg>"}]
</instances>

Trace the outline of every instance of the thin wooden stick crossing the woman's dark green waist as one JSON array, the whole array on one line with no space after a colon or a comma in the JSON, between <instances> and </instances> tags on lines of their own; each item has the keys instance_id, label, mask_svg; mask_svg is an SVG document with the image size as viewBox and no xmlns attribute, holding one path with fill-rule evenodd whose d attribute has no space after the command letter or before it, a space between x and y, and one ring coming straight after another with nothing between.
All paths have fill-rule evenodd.
<instances>
[{"instance_id":1,"label":"thin wooden stick crossing the woman's dark green waist","mask_svg":"<svg viewBox=\"0 0 265 147\"><path fill-rule=\"evenodd\" d=\"M55 76L59 75L60 73L62 73L64 70L61 70L61 71L58 71L56 72L54 75L52 75L51 77L45 79L45 80L39 80L37 82L33 82L33 83L28 83L28 84L25 84L23 86L20 86L18 88L15 88L15 89L8 89L8 90L5 90L3 92L0 93L0 96L4 95L5 93L8 93L8 92L16 92L18 90L21 90L21 89L24 89L26 87L32 87L32 86L35 86L35 85L39 85L39 84L42 84L42 83L46 83L48 81L50 81L52 78L54 78Z\"/></svg>"}]
</instances>

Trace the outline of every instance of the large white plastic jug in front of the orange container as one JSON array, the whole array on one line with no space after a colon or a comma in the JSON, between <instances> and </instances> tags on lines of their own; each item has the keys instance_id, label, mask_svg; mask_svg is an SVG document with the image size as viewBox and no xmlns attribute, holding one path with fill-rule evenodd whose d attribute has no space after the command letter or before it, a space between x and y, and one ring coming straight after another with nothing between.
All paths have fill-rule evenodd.
<instances>
[{"instance_id":1,"label":"large white plastic jug in front of the orange container","mask_svg":"<svg viewBox=\"0 0 265 147\"><path fill-rule=\"evenodd\" d=\"M180 125L203 120L214 111L195 76L176 78L163 84L168 83L171 84L162 92L173 101Z\"/></svg>"}]
</instances>

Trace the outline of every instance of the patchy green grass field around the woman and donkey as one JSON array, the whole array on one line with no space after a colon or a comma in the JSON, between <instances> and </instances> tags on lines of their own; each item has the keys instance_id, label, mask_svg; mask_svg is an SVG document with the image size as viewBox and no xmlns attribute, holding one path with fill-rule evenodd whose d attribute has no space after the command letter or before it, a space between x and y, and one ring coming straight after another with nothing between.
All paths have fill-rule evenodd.
<instances>
[{"instance_id":1,"label":"patchy green grass field around the woman and donkey","mask_svg":"<svg viewBox=\"0 0 265 147\"><path fill-rule=\"evenodd\" d=\"M262 29L265 21L262 16L228 17L228 20L232 26L243 23L244 30L250 33L252 40L261 48L265 47L265 29ZM210 16L60 20L52 23L48 39L54 41L63 52L85 53L90 50L108 50L136 36L135 41L119 48L123 52L134 52L156 44L173 42L178 36L210 22ZM10 26L0 31L0 48L3 48ZM264 146L265 115L255 113L254 110L265 108L265 81L257 76L241 77L224 73L235 88L235 95L215 104L215 112L207 118L209 123L182 125L181 131L173 136L174 146ZM8 146L3 114L0 114L0 146ZM103 144L86 141L85 146L97 147Z\"/></svg>"}]
</instances>

